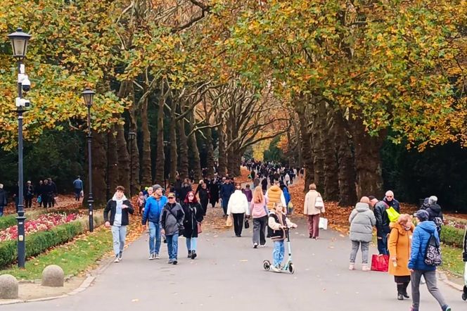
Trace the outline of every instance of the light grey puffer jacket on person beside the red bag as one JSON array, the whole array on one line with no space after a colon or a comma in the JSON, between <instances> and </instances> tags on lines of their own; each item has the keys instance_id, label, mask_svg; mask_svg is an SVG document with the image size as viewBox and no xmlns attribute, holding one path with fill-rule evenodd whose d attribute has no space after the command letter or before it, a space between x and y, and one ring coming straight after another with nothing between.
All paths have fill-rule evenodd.
<instances>
[{"instance_id":1,"label":"light grey puffer jacket on person beside the red bag","mask_svg":"<svg viewBox=\"0 0 467 311\"><path fill-rule=\"evenodd\" d=\"M371 242L376 218L367 203L359 202L350 213L350 240Z\"/></svg>"}]
</instances>

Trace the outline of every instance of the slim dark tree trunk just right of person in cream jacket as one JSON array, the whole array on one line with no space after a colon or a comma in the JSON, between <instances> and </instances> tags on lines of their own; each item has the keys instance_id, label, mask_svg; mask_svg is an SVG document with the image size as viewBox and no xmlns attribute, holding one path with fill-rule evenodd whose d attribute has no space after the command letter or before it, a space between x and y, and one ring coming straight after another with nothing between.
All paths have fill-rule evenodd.
<instances>
[{"instance_id":1,"label":"slim dark tree trunk just right of person in cream jacket","mask_svg":"<svg viewBox=\"0 0 467 311\"><path fill-rule=\"evenodd\" d=\"M329 144L331 129L328 126L328 112L326 103L321 101L318 106L318 118L324 125L321 135L324 149L324 198L329 201L339 200L338 159L335 153L335 145Z\"/></svg>"}]
</instances>

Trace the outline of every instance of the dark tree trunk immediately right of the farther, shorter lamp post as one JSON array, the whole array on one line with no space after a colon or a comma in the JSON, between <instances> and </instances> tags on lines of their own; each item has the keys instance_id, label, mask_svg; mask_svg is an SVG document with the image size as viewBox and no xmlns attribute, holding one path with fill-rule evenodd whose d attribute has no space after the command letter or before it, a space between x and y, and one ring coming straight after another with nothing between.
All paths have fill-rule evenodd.
<instances>
[{"instance_id":1,"label":"dark tree trunk immediately right of the farther, shorter lamp post","mask_svg":"<svg viewBox=\"0 0 467 311\"><path fill-rule=\"evenodd\" d=\"M92 194L94 198L94 207L104 204L106 202L105 190L107 184L105 183L105 134L94 133L92 136ZM87 182L84 182L87 184Z\"/></svg>"}]
</instances>

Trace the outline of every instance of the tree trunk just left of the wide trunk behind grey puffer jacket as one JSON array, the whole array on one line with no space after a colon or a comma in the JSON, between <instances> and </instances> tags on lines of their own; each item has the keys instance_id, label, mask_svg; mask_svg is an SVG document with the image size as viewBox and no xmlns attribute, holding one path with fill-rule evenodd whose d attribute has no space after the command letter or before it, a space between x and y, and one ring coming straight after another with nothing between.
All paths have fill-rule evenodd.
<instances>
[{"instance_id":1,"label":"tree trunk just left of the wide trunk behind grey puffer jacket","mask_svg":"<svg viewBox=\"0 0 467 311\"><path fill-rule=\"evenodd\" d=\"M340 206L354 205L357 202L354 157L346 122L340 110L333 113L333 136L331 139L335 142L338 153Z\"/></svg>"}]
</instances>

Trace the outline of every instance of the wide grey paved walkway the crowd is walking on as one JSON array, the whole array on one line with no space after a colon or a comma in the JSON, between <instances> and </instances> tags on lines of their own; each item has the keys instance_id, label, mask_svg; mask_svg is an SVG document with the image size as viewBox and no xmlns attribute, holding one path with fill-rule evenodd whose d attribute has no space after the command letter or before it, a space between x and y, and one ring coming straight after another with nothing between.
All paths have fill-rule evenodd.
<instances>
[{"instance_id":1,"label":"wide grey paved walkway the crowd is walking on","mask_svg":"<svg viewBox=\"0 0 467 311\"><path fill-rule=\"evenodd\" d=\"M167 264L165 244L162 259L149 261L145 235L86 291L59 300L4 305L1 310L409 310L411 300L396 300L392 276L347 270L347 236L321 231L321 239L314 241L305 235L305 222L298 224L293 275L262 270L262 260L271 258L271 242L253 249L251 229L242 238L233 237L233 230L201 234L196 260L186 258L181 238L177 266ZM374 247L371 253L376 253ZM467 310L459 291L439 286L453 310ZM421 310L440 310L426 288Z\"/></svg>"}]
</instances>

